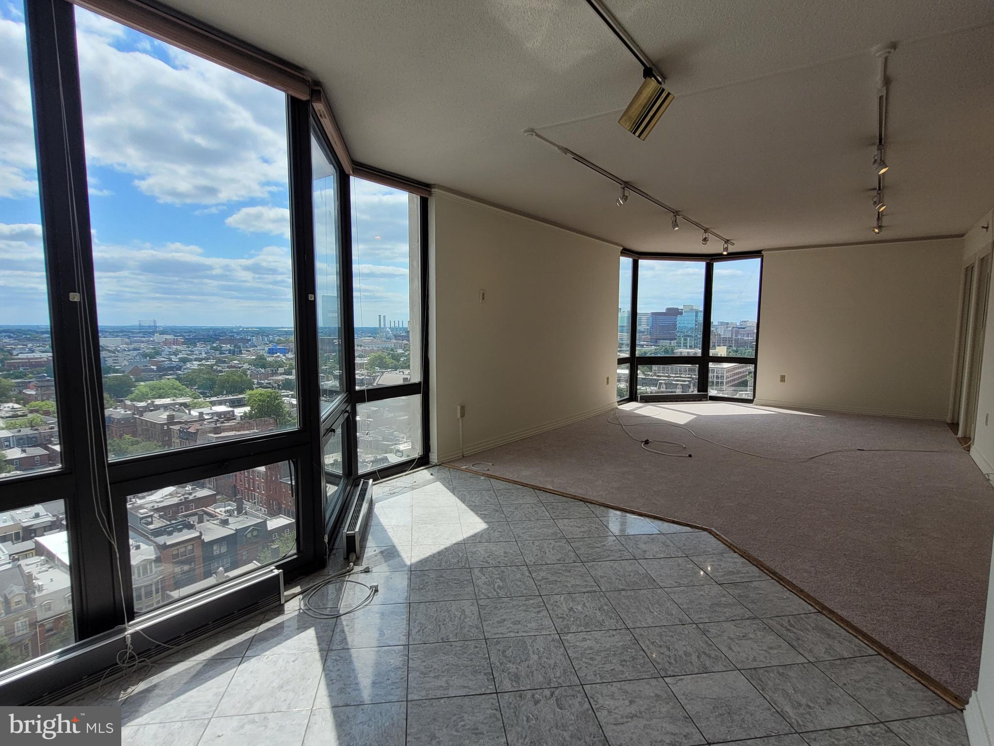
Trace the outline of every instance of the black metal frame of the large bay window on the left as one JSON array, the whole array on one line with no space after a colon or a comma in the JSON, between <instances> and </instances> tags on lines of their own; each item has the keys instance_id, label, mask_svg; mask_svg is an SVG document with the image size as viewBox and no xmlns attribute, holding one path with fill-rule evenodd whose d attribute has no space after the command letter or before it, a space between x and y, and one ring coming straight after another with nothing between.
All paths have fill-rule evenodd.
<instances>
[{"instance_id":1,"label":"black metal frame of the large bay window on the left","mask_svg":"<svg viewBox=\"0 0 994 746\"><path fill-rule=\"evenodd\" d=\"M340 494L348 495L358 474L355 434L360 403L409 394L421 395L421 456L390 468L362 474L384 478L428 463L428 209L419 196L421 380L416 384L363 390L357 397L351 194L347 170L331 147L311 101L286 95L288 188L293 275L297 424L234 441L155 452L110 461L103 416L99 333L89 204L83 144L75 5L68 0L24 0L28 35L28 69L38 156L39 197L49 291L56 404L59 412L61 465L52 470L0 480L0 511L41 501L64 500L69 536L72 615L76 643L0 670L0 701L27 703L45 692L77 684L93 673L92 653L138 615L129 556L126 497L138 492L208 479L257 466L288 462L294 478L296 553L266 565L286 581L327 564L334 529L346 500L326 503L323 443L344 428ZM168 40L165 40L168 42ZM337 172L340 329L344 392L326 413L321 411L311 136L321 143ZM414 183L414 182L412 182ZM418 185L423 186L423 185ZM111 535L105 526L112 526ZM216 617L205 601L220 598L225 585L141 614L143 621L166 620L176 635L203 629ZM237 603L250 592L234 594ZM254 599L252 599L254 602ZM231 603L236 603L232 601ZM235 613L235 610L233 610ZM172 638L170 638L172 639ZM166 642L163 640L162 642ZM142 641L144 645L144 641ZM147 648L147 645L146 645ZM113 656L103 664L111 664Z\"/></svg>"}]
</instances>

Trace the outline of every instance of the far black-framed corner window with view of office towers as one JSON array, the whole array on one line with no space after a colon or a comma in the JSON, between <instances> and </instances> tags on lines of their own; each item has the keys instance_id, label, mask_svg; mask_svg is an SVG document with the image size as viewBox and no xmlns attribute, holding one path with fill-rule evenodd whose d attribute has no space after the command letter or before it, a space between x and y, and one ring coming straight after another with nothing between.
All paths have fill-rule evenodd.
<instances>
[{"instance_id":1,"label":"far black-framed corner window with view of office towers","mask_svg":"<svg viewBox=\"0 0 994 746\"><path fill-rule=\"evenodd\" d=\"M626 254L620 263L618 400L654 394L751 401L762 259Z\"/></svg>"}]
</instances>

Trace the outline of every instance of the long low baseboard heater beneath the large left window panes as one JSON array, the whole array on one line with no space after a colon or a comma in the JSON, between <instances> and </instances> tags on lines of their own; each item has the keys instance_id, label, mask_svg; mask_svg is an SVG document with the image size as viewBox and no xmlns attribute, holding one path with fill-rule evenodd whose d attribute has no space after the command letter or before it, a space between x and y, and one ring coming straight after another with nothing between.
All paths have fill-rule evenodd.
<instances>
[{"instance_id":1,"label":"long low baseboard heater beneath the large left window panes","mask_svg":"<svg viewBox=\"0 0 994 746\"><path fill-rule=\"evenodd\" d=\"M132 649L154 660L283 601L283 573L267 567L233 578L214 592L177 601L140 617L131 625ZM118 654L126 650L127 633L118 627L34 658L0 675L0 702L52 704L93 688L104 675L109 683L116 677L113 669L118 667ZM72 683L61 685L66 681Z\"/></svg>"}]
</instances>

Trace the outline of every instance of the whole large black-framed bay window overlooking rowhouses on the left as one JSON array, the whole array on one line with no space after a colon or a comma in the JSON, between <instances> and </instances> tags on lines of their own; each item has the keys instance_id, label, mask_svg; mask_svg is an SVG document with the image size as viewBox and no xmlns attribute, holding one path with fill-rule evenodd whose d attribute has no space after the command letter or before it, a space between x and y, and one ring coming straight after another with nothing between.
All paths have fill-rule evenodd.
<instances>
[{"instance_id":1,"label":"whole large black-framed bay window overlooking rowhouses on the left","mask_svg":"<svg viewBox=\"0 0 994 746\"><path fill-rule=\"evenodd\" d=\"M355 477L427 449L426 188L348 178L302 72L163 18L0 0L4 695L318 567Z\"/></svg>"}]
</instances>

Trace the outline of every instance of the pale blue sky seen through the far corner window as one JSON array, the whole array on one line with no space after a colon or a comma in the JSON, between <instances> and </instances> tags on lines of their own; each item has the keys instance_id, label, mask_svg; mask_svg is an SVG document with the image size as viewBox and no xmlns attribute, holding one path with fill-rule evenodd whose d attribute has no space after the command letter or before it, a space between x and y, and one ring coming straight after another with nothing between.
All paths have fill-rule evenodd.
<instances>
[{"instance_id":1,"label":"pale blue sky seen through the far corner window","mask_svg":"<svg viewBox=\"0 0 994 746\"><path fill-rule=\"evenodd\" d=\"M618 305L625 307L631 294L631 264L621 262ZM702 262L643 260L638 263L638 311L647 313L668 306L704 305ZM712 319L755 320L759 298L759 260L743 259L715 263Z\"/></svg>"}]
</instances>

